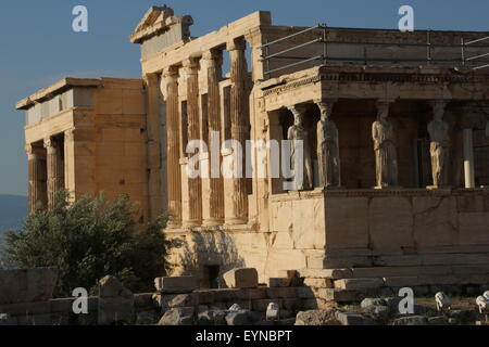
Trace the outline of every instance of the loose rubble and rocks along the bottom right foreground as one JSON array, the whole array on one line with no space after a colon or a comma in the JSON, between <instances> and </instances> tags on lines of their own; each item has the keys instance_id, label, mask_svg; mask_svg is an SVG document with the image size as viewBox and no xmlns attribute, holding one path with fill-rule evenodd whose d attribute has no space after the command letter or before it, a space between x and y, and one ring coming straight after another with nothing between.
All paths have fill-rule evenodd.
<instances>
[{"instance_id":1,"label":"loose rubble and rocks along the bottom right foreground","mask_svg":"<svg viewBox=\"0 0 489 347\"><path fill-rule=\"evenodd\" d=\"M336 305L298 312L289 319L263 320L255 312L229 310L167 311L159 325L489 325L473 298L452 298L450 310L439 312L434 298L417 298L414 313L399 313L399 298L366 298L360 305Z\"/></svg>"}]
</instances>

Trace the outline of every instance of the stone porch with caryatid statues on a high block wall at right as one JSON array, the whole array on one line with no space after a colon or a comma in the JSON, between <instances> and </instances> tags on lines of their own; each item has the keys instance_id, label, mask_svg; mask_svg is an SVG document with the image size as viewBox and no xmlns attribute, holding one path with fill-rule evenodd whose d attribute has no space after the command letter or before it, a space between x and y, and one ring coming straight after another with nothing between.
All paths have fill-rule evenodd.
<instances>
[{"instance_id":1,"label":"stone porch with caryatid statues on a high block wall at right","mask_svg":"<svg viewBox=\"0 0 489 347\"><path fill-rule=\"evenodd\" d=\"M294 246L316 268L434 265L447 254L463 257L468 245L489 250L489 205L481 203L489 196L489 168L474 155L488 143L488 83L487 75L448 69L344 66L260 83L268 140L287 139L296 115L290 110L300 111L314 167L309 190L286 191L284 178L269 180L269 230L293 228L301 240ZM324 119L338 137L339 154L329 163L340 163L337 170L326 167L327 175L317 143ZM390 133L378 137L386 131L379 121ZM436 150L444 140L434 121L448 138L442 167ZM379 165L381 139L392 150ZM437 177L442 180L434 182Z\"/></svg>"}]
</instances>

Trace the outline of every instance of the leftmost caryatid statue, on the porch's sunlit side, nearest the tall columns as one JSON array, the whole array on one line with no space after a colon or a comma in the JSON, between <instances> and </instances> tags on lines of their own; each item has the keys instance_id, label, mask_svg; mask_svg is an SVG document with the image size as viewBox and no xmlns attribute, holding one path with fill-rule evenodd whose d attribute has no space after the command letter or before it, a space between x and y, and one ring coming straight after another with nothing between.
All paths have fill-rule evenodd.
<instances>
[{"instance_id":1,"label":"leftmost caryatid statue, on the porch's sunlit side, nearest the tall columns","mask_svg":"<svg viewBox=\"0 0 489 347\"><path fill-rule=\"evenodd\" d=\"M292 142L290 167L293 170L294 189L302 191L313 187L313 168L309 149L309 134L303 126L303 111L298 106L291 106L289 110L293 114L293 126L291 126L287 132L287 139Z\"/></svg>"}]
</instances>

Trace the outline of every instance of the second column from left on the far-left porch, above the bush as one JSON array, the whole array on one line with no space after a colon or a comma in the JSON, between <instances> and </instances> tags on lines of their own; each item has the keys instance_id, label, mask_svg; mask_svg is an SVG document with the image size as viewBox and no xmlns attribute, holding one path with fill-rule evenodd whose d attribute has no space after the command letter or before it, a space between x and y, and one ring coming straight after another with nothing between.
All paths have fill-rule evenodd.
<instances>
[{"instance_id":1,"label":"second column from left on the far-left porch, above the bush","mask_svg":"<svg viewBox=\"0 0 489 347\"><path fill-rule=\"evenodd\" d=\"M48 167L48 208L53 208L58 191L64 188L64 165L62 158L63 147L60 142L48 138L45 139Z\"/></svg>"}]
</instances>

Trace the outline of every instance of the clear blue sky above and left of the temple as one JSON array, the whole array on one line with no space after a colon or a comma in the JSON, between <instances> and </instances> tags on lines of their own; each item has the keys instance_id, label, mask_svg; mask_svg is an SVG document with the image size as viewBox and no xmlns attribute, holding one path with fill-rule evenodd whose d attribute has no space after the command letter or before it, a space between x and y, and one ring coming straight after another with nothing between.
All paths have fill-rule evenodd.
<instances>
[{"instance_id":1,"label":"clear blue sky above and left of the temple","mask_svg":"<svg viewBox=\"0 0 489 347\"><path fill-rule=\"evenodd\" d=\"M489 30L488 0L3 0L0 4L0 194L26 194L24 114L16 101L64 76L140 77L138 46L128 36L151 5L190 14L200 36L256 10L274 24L397 28L410 4L415 29ZM72 30L72 9L89 11L89 33Z\"/></svg>"}]
</instances>

